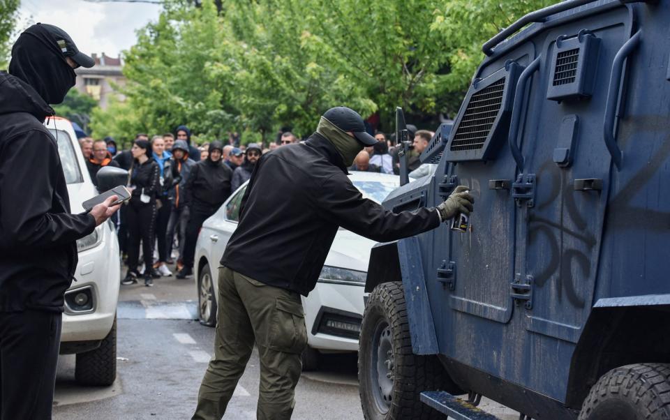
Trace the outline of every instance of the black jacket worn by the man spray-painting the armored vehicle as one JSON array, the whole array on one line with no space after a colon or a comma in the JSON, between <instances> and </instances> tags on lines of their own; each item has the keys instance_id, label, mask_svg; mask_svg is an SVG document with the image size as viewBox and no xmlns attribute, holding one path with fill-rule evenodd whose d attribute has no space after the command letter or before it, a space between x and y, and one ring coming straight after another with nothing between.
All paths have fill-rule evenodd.
<instances>
[{"instance_id":1,"label":"black jacket worn by the man spray-painting the armored vehicle","mask_svg":"<svg viewBox=\"0 0 670 420\"><path fill-rule=\"evenodd\" d=\"M221 264L305 296L316 285L338 226L387 242L440 225L435 209L392 213L364 198L338 151L318 133L258 160L239 214Z\"/></svg>"}]
</instances>

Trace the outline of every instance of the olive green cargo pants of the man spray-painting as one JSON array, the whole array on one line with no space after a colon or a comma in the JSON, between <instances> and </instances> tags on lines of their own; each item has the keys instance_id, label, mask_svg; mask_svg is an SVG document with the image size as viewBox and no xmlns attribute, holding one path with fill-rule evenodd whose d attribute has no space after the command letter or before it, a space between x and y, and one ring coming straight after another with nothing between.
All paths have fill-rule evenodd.
<instances>
[{"instance_id":1,"label":"olive green cargo pants of the man spray-painting","mask_svg":"<svg viewBox=\"0 0 670 420\"><path fill-rule=\"evenodd\" d=\"M214 358L198 393L194 420L221 419L251 357L260 355L258 419L290 419L307 330L300 295L221 267Z\"/></svg>"}]
</instances>

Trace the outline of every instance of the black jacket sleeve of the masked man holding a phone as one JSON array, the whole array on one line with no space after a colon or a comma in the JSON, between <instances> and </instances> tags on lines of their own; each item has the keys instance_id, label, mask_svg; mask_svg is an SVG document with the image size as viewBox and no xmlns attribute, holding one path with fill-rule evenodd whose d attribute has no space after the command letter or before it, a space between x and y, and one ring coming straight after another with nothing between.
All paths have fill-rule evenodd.
<instances>
[{"instance_id":1,"label":"black jacket sleeve of the masked man holding a phone","mask_svg":"<svg viewBox=\"0 0 670 420\"><path fill-rule=\"evenodd\" d=\"M62 171L57 146L47 133L32 130L5 144L0 153L3 248L53 248L93 232L96 220L90 214L50 213Z\"/></svg>"}]
</instances>

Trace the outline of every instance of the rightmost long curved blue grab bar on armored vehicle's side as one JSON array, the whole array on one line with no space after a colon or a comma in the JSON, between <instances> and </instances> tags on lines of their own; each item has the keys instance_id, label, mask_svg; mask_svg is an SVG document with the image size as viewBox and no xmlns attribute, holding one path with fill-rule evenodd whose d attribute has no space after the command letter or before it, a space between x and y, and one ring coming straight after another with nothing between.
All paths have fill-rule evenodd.
<instances>
[{"instance_id":1,"label":"rightmost long curved blue grab bar on armored vehicle's side","mask_svg":"<svg viewBox=\"0 0 670 420\"><path fill-rule=\"evenodd\" d=\"M616 108L619 103L619 88L621 86L621 75L623 73L623 63L625 59L640 45L642 29L637 31L621 49L616 53L612 63L612 75L609 79L609 91L607 93L607 103L605 105L605 119L603 123L603 135L605 146L612 156L612 161L616 169L621 169L622 153L616 144L614 138L614 123L616 119ZM623 100L623 98L622 98Z\"/></svg>"}]
</instances>

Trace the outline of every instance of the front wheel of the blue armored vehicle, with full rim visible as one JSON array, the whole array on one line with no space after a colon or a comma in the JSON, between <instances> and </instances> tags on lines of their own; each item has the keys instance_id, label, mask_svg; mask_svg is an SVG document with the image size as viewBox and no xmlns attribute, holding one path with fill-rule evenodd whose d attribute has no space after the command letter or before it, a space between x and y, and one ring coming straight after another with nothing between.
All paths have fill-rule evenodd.
<instances>
[{"instance_id":1,"label":"front wheel of the blue armored vehicle, with full rim visible","mask_svg":"<svg viewBox=\"0 0 670 420\"><path fill-rule=\"evenodd\" d=\"M358 352L358 380L366 420L444 419L419 400L422 391L456 389L435 356L412 353L400 282L382 283L368 299Z\"/></svg>"}]
</instances>

